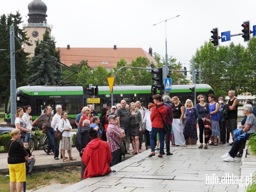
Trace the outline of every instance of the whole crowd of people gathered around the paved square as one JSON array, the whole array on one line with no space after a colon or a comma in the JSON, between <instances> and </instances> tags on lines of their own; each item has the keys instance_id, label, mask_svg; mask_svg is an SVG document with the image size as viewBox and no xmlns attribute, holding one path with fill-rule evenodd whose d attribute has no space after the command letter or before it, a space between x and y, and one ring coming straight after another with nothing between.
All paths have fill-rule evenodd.
<instances>
[{"instance_id":1,"label":"whole crowd of people gathered around the paved square","mask_svg":"<svg viewBox=\"0 0 256 192\"><path fill-rule=\"evenodd\" d=\"M159 150L160 158L165 154L173 155L170 152L171 145L173 147L195 145L198 140L197 124L200 142L198 148L207 149L208 145L218 146L228 143L231 133L233 142L228 145L232 147L221 158L224 161L234 161L235 157L242 156L246 140L256 132L256 109L252 101L245 101L244 119L240 129L237 129L238 100L232 90L228 92L228 97L230 99L225 104L222 97L216 101L214 95L209 94L207 103L204 95L198 95L198 104L194 107L190 99L182 105L177 96L162 98L157 94L153 96L154 103L148 103L148 109L142 107L140 101L127 105L125 100L121 100L111 108L103 107L100 117L92 104L82 107L81 113L76 117L78 132L75 138L75 145L81 156L81 179L108 174L111 172L111 166L121 162L122 154L130 154L128 150L132 150L132 155L141 153L143 137L146 149L151 149L148 157L155 156L155 150ZM32 176L35 157L29 152L28 145L31 128L37 122L41 121L46 127L49 140L47 155L54 155L54 159L58 160L60 149L60 158L63 162L76 160L71 156L72 126L67 118L67 111L63 111L62 107L57 105L53 116L52 108L47 106L44 113L33 122L30 112L30 106L17 109L16 130L12 131L12 140L7 145L10 188L14 188L15 181L17 189L20 188L20 182L25 178L26 165L30 165L28 175ZM165 123L169 131L164 129ZM61 139L55 138L57 130L62 132ZM19 145L19 142L23 142L24 146ZM123 148L124 150L121 151ZM19 158L16 161L13 154L17 150ZM68 157L65 156L66 150ZM98 162L97 169L94 166L95 162ZM17 167L14 168L12 164L20 164L17 166L20 169L19 177L15 176Z\"/></svg>"}]
</instances>

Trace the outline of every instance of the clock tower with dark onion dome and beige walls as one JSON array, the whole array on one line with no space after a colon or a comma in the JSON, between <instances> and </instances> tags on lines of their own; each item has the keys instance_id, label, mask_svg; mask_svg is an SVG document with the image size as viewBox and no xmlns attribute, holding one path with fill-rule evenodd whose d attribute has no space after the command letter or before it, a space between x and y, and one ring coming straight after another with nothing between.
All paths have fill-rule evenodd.
<instances>
[{"instance_id":1,"label":"clock tower with dark onion dome and beige walls","mask_svg":"<svg viewBox=\"0 0 256 192\"><path fill-rule=\"evenodd\" d=\"M46 29L50 31L52 26L47 23L46 20L47 6L41 0L33 0L28 4L28 23L23 24L24 31L27 31L27 37L29 37L28 43L32 46L24 44L24 51L30 53L30 56L34 56L34 50L36 47L36 41L43 40L43 34Z\"/></svg>"}]
</instances>

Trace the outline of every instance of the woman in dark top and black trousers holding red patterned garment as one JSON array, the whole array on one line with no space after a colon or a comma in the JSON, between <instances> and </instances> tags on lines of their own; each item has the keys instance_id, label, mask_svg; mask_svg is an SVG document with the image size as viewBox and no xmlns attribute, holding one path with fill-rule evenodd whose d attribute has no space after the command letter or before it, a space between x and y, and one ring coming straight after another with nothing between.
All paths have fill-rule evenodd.
<instances>
[{"instance_id":1,"label":"woman in dark top and black trousers holding red patterned garment","mask_svg":"<svg viewBox=\"0 0 256 192\"><path fill-rule=\"evenodd\" d=\"M204 134L204 148L207 149L208 148L207 143L208 143L208 140L210 139L211 131L210 131L210 126L206 126L207 128L205 128L204 121L207 121L207 119L210 119L210 108L208 106L208 103L204 102L203 95L198 95L197 100L199 101L199 103L196 105L196 114L198 117L199 140L200 140L200 146L198 148L203 148L203 134Z\"/></svg>"}]
</instances>

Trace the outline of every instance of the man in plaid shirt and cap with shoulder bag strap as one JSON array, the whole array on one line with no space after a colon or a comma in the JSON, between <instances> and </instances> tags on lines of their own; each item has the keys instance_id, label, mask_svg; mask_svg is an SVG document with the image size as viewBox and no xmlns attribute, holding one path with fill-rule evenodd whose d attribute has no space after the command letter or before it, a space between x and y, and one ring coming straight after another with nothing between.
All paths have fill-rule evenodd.
<instances>
[{"instance_id":1,"label":"man in plaid shirt and cap with shoulder bag strap","mask_svg":"<svg viewBox=\"0 0 256 192\"><path fill-rule=\"evenodd\" d=\"M107 140L112 155L112 162L110 163L110 167L121 162L120 147L116 144L116 142L120 144L122 138L125 137L124 130L119 128L116 124L116 115L108 116ZM113 137L113 139L110 137L110 135Z\"/></svg>"}]
</instances>

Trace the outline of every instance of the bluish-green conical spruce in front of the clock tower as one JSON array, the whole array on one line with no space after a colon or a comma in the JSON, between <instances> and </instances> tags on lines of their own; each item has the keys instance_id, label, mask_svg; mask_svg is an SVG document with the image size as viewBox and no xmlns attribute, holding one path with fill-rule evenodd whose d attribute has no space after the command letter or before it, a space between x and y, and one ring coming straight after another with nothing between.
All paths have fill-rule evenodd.
<instances>
[{"instance_id":1,"label":"bluish-green conical spruce in front of the clock tower","mask_svg":"<svg viewBox=\"0 0 256 192\"><path fill-rule=\"evenodd\" d=\"M54 37L46 29L43 41L36 42L35 55L28 63L30 85L57 85L62 80L60 72L60 51L55 50Z\"/></svg>"}]
</instances>

